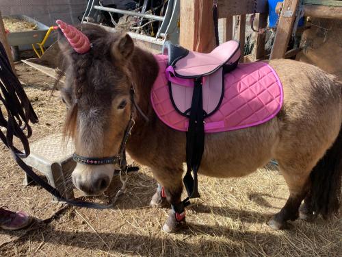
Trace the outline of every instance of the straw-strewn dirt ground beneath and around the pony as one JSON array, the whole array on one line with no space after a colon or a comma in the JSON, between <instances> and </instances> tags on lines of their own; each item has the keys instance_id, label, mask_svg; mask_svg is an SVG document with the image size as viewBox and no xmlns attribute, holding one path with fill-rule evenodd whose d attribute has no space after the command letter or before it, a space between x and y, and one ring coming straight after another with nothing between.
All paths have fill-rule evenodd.
<instances>
[{"instance_id":1,"label":"straw-strewn dirt ground beneath and around the pony","mask_svg":"<svg viewBox=\"0 0 342 257\"><path fill-rule=\"evenodd\" d=\"M31 142L59 132L65 108L53 79L16 64L19 79L36 110ZM89 210L51 203L39 186L23 186L23 171L0 146L0 206L25 210L44 223L19 232L0 230L0 256L341 256L342 219L294 221L289 230L266 225L288 197L278 171L261 169L240 179L200 177L201 198L187 209L189 228L161 230L168 210L148 206L155 192L152 173L132 174L127 194L110 210ZM116 190L119 180L114 180ZM92 199L106 202L107 197Z\"/></svg>"}]
</instances>

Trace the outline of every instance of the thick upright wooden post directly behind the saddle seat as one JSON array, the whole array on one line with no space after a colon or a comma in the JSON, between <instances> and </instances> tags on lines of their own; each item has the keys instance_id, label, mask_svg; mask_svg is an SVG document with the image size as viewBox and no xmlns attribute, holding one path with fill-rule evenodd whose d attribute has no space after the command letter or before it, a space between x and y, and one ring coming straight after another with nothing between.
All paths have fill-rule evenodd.
<instances>
[{"instance_id":1,"label":"thick upright wooden post directly behind the saddle seat","mask_svg":"<svg viewBox=\"0 0 342 257\"><path fill-rule=\"evenodd\" d=\"M179 43L193 51L209 53L215 48L213 1L181 1Z\"/></svg>"}]
</instances>

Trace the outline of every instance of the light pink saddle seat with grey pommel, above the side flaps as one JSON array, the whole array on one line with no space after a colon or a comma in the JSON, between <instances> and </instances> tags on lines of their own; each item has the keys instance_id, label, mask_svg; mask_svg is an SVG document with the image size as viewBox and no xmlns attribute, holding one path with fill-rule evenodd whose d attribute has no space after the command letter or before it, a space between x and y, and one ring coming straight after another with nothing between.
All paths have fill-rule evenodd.
<instances>
[{"instance_id":1,"label":"light pink saddle seat with grey pommel, above the side flaps","mask_svg":"<svg viewBox=\"0 0 342 257\"><path fill-rule=\"evenodd\" d=\"M173 67L176 77L189 79L210 75L225 64L237 63L240 58L240 44L231 40L216 47L211 53L198 53L167 41L163 54L168 56L168 64Z\"/></svg>"}]
</instances>

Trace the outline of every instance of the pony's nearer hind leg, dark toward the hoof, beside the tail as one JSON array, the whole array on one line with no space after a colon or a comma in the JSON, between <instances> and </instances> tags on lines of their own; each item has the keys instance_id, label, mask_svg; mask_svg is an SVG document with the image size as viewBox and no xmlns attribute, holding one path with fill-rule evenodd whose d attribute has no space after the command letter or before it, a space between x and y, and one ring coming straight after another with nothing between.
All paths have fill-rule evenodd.
<instances>
[{"instance_id":1,"label":"pony's nearer hind leg, dark toward the hoof, beside the tail","mask_svg":"<svg viewBox=\"0 0 342 257\"><path fill-rule=\"evenodd\" d=\"M309 191L310 171L299 173L293 168L282 169L280 164L280 171L289 187L290 196L284 207L274 215L269 221L268 225L275 230L280 230L287 227L287 221L295 221L299 217L300 204Z\"/></svg>"}]
</instances>

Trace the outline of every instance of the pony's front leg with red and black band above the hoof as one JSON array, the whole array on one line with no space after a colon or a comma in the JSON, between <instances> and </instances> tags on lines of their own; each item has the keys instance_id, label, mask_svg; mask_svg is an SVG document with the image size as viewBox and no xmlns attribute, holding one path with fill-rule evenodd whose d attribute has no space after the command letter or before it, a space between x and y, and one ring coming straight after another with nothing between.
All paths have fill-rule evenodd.
<instances>
[{"instance_id":1,"label":"pony's front leg with red and black band above the hoof","mask_svg":"<svg viewBox=\"0 0 342 257\"><path fill-rule=\"evenodd\" d=\"M160 167L153 169L153 175L163 187L164 196L168 203L171 204L171 210L168 219L163 225L163 230L168 233L176 232L185 226L185 207L181 201L183 167L173 169L163 169L163 167ZM158 189L156 194L160 195ZM154 201L155 195L153 195L152 201Z\"/></svg>"}]
</instances>

